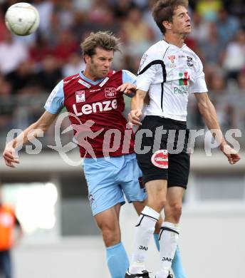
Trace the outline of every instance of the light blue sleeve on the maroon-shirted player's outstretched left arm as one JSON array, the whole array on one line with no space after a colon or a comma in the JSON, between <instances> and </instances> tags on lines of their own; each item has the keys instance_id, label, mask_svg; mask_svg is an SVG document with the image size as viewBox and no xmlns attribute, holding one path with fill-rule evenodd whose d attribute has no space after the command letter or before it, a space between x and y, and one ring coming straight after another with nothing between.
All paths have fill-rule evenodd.
<instances>
[{"instance_id":1,"label":"light blue sleeve on the maroon-shirted player's outstretched left arm","mask_svg":"<svg viewBox=\"0 0 245 278\"><path fill-rule=\"evenodd\" d=\"M57 114L61 111L64 105L63 80L56 85L44 105L46 111L51 114Z\"/></svg>"}]
</instances>

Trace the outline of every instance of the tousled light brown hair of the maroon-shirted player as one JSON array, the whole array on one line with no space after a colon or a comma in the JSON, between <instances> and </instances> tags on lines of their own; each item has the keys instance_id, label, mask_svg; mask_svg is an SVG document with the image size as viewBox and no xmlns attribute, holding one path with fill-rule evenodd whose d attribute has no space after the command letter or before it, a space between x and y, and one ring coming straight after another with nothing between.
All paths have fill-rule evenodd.
<instances>
[{"instance_id":1,"label":"tousled light brown hair of the maroon-shirted player","mask_svg":"<svg viewBox=\"0 0 245 278\"><path fill-rule=\"evenodd\" d=\"M113 50L120 51L120 39L116 38L113 33L99 31L97 33L90 33L80 44L83 51L83 56L93 56L95 54L95 48L100 47L107 51Z\"/></svg>"}]
</instances>

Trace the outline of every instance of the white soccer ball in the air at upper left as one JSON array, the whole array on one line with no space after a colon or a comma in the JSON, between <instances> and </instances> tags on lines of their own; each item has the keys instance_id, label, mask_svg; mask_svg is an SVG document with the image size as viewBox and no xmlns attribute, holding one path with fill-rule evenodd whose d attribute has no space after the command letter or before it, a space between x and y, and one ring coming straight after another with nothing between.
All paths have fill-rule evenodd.
<instances>
[{"instance_id":1,"label":"white soccer ball in the air at upper left","mask_svg":"<svg viewBox=\"0 0 245 278\"><path fill-rule=\"evenodd\" d=\"M35 32L39 22L38 10L24 2L10 6L5 14L7 28L19 36L27 36Z\"/></svg>"}]
</instances>

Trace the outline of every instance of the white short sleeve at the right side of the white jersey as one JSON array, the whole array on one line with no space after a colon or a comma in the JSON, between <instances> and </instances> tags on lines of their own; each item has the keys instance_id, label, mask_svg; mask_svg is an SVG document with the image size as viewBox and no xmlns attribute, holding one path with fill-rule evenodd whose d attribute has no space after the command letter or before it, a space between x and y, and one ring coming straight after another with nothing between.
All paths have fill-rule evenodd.
<instances>
[{"instance_id":1,"label":"white short sleeve at the right side of the white jersey","mask_svg":"<svg viewBox=\"0 0 245 278\"><path fill-rule=\"evenodd\" d=\"M194 63L194 82L190 83L190 93L206 93L207 84L205 81L205 75L203 71L202 61L197 57L197 62Z\"/></svg>"}]
</instances>

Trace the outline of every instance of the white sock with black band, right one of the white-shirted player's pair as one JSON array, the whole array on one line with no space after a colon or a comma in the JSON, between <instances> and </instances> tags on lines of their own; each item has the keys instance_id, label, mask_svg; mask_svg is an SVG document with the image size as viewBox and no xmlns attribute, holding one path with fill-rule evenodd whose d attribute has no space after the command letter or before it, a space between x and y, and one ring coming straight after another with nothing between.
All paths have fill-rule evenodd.
<instances>
[{"instance_id":1,"label":"white sock with black band, right one of the white-shirted player's pair","mask_svg":"<svg viewBox=\"0 0 245 278\"><path fill-rule=\"evenodd\" d=\"M163 222L159 235L160 243L160 272L157 273L159 278L165 278L171 269L174 253L179 240L179 224Z\"/></svg>"}]
</instances>

